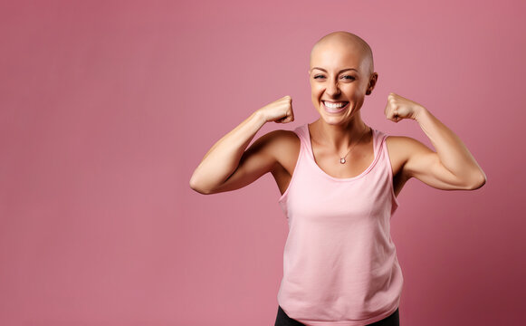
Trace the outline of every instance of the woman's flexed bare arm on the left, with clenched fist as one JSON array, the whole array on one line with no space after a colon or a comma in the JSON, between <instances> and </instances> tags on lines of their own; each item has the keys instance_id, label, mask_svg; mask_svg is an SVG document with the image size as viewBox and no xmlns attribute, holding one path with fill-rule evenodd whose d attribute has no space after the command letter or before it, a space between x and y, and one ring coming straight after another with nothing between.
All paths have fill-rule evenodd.
<instances>
[{"instance_id":1,"label":"woman's flexed bare arm on the left, with clenched fist","mask_svg":"<svg viewBox=\"0 0 526 326\"><path fill-rule=\"evenodd\" d=\"M256 140L251 149L246 147L267 121L291 122L293 120L292 99L285 96L280 100L254 111L208 150L190 178L190 187L201 194L233 190L253 182L257 177L270 171L275 157L266 144L272 135ZM243 159L242 159L243 158ZM228 182L232 180L231 182Z\"/></svg>"}]
</instances>

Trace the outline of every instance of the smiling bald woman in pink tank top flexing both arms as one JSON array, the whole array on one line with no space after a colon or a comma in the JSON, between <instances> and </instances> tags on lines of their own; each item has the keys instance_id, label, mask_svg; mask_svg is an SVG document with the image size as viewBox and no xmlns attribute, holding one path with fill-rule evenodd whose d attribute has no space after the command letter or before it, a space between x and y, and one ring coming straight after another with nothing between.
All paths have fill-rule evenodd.
<instances>
[{"instance_id":1,"label":"smiling bald woman in pink tank top flexing both arms","mask_svg":"<svg viewBox=\"0 0 526 326\"><path fill-rule=\"evenodd\" d=\"M290 96L255 110L206 153L190 187L215 194L273 174L289 223L275 325L398 325L403 276L389 226L397 195L411 177L473 190L485 174L462 140L415 101L390 93L386 117L416 120L436 152L364 123L360 108L378 73L359 36L322 37L309 76L318 120L269 132L246 149L264 123L294 120Z\"/></svg>"}]
</instances>

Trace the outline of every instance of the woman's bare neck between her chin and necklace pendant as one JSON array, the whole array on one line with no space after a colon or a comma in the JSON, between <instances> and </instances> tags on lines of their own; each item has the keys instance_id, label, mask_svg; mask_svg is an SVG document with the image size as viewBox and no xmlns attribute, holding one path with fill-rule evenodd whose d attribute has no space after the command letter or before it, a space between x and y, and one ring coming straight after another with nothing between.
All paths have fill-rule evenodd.
<instances>
[{"instance_id":1,"label":"woman's bare neck between her chin and necklace pendant","mask_svg":"<svg viewBox=\"0 0 526 326\"><path fill-rule=\"evenodd\" d=\"M311 132L314 133L316 142L339 153L346 153L360 138L366 139L364 132L367 131L368 126L360 117L340 125L330 125L321 118L311 123Z\"/></svg>"}]
</instances>

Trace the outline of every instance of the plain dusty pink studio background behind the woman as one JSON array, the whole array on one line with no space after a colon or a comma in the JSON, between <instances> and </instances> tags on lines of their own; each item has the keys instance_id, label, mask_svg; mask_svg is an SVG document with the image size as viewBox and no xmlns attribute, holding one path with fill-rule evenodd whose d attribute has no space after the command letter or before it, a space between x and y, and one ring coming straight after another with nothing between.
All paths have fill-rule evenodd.
<instances>
[{"instance_id":1,"label":"plain dusty pink studio background behind the woman","mask_svg":"<svg viewBox=\"0 0 526 326\"><path fill-rule=\"evenodd\" d=\"M185 5L182 5L182 4ZM472 6L473 5L473 6ZM487 184L411 180L392 236L400 321L519 324L526 292L523 1L5 1L0 5L0 324L273 325L287 223L271 175L188 187L215 141L292 96L317 119L311 46L346 30L378 85L464 140Z\"/></svg>"}]
</instances>

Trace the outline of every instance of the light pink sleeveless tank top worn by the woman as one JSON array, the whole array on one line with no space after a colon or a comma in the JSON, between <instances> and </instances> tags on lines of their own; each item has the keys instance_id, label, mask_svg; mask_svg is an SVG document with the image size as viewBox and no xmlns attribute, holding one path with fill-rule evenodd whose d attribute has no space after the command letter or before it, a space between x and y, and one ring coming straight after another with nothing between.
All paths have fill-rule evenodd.
<instances>
[{"instance_id":1,"label":"light pink sleeveless tank top worn by the woman","mask_svg":"<svg viewBox=\"0 0 526 326\"><path fill-rule=\"evenodd\" d=\"M278 200L289 235L278 303L306 325L367 325L395 312L404 279L390 235L398 202L386 137L373 129L372 163L359 176L331 177L314 161L307 124Z\"/></svg>"}]
</instances>

